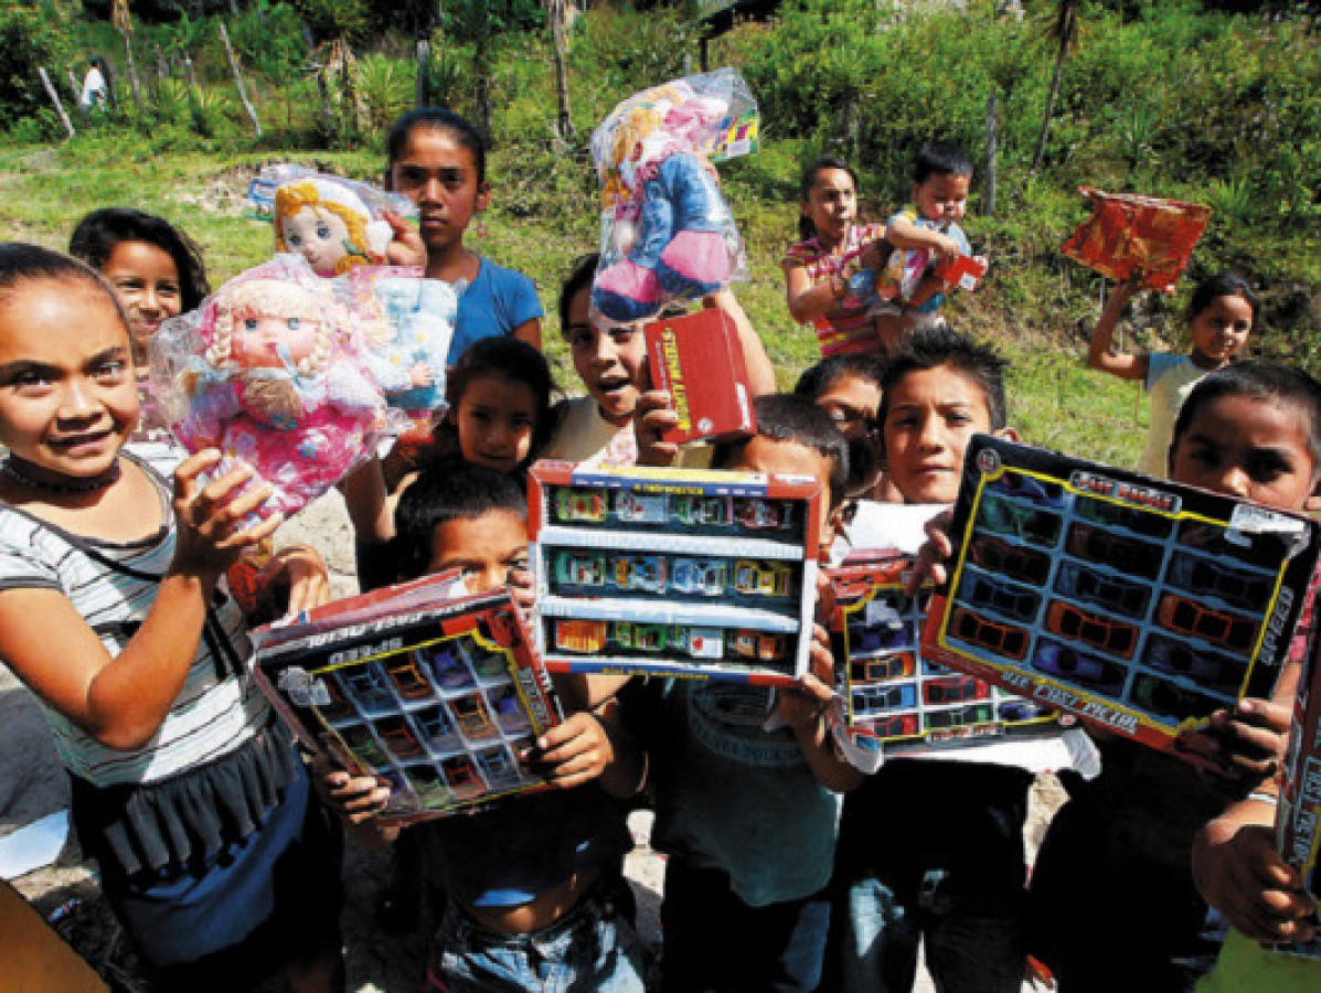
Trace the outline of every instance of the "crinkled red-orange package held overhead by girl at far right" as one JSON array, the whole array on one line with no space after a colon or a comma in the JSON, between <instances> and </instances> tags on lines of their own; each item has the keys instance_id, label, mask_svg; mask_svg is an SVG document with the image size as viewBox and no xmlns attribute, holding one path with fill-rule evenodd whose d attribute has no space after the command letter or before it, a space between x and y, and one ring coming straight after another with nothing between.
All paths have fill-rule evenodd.
<instances>
[{"instance_id":1,"label":"crinkled red-orange package held overhead by girl at far right","mask_svg":"<svg viewBox=\"0 0 1321 993\"><path fill-rule=\"evenodd\" d=\"M1166 293L1188 268L1211 209L1201 203L1079 188L1092 214L1059 250L1116 280L1140 277Z\"/></svg>"}]
</instances>

